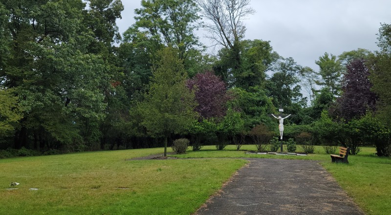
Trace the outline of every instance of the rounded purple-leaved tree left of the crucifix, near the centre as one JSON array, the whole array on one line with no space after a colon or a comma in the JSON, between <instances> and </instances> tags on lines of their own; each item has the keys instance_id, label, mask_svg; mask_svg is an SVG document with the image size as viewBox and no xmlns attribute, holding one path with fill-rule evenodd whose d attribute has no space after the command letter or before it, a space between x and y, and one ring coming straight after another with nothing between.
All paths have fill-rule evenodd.
<instances>
[{"instance_id":1,"label":"rounded purple-leaved tree left of the crucifix, near the centre","mask_svg":"<svg viewBox=\"0 0 391 215\"><path fill-rule=\"evenodd\" d=\"M195 110L201 118L225 116L226 103L230 96L227 94L225 83L213 72L198 73L188 81L187 85L195 90L195 100L198 103Z\"/></svg>"}]
</instances>

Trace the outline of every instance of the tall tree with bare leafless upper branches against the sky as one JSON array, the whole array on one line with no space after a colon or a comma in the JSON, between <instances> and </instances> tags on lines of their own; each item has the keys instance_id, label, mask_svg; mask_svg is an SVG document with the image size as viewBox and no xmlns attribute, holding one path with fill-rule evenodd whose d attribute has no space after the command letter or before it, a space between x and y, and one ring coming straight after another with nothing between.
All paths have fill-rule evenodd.
<instances>
[{"instance_id":1,"label":"tall tree with bare leafless upper branches against the sky","mask_svg":"<svg viewBox=\"0 0 391 215\"><path fill-rule=\"evenodd\" d=\"M243 19L255 12L249 7L249 3L250 0L198 0L201 14L209 20L204 24L205 29L210 32L209 39L215 46L222 47L218 52L220 62L217 62L214 70L229 87L243 87L242 79L251 79L249 76L252 75L255 75L256 82L262 81L259 80L262 73L252 71L251 75L246 74L242 67L241 41L245 33Z\"/></svg>"}]
</instances>

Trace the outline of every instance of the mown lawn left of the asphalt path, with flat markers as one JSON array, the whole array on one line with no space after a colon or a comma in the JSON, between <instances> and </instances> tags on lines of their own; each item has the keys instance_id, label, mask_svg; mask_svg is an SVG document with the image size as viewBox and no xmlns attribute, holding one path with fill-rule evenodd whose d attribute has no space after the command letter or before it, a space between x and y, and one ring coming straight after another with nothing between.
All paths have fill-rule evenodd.
<instances>
[{"instance_id":1,"label":"mown lawn left of the asphalt path, with flat markers","mask_svg":"<svg viewBox=\"0 0 391 215\"><path fill-rule=\"evenodd\" d=\"M162 151L0 160L0 214L191 214L246 163L216 158L126 160ZM11 181L20 183L17 190L6 190Z\"/></svg>"}]
</instances>

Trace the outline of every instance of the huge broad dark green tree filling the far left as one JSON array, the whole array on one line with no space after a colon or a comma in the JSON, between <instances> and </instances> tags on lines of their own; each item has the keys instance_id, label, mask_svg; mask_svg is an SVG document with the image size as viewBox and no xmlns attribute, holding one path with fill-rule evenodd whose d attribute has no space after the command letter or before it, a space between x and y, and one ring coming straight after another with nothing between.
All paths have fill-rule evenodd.
<instances>
[{"instance_id":1,"label":"huge broad dark green tree filling the far left","mask_svg":"<svg viewBox=\"0 0 391 215\"><path fill-rule=\"evenodd\" d=\"M98 30L103 23L95 18L100 11L115 21L118 10L110 14L107 7L95 7L111 1L89 2L90 9L80 0L2 2L9 17L4 35L10 43L0 83L18 97L22 113L15 148L31 147L33 142L37 150L92 149L98 142L113 77L112 64L107 62L115 62L115 55L107 54L112 53L109 37L115 33L100 35L107 27ZM88 19L94 19L95 25L89 25Z\"/></svg>"}]
</instances>

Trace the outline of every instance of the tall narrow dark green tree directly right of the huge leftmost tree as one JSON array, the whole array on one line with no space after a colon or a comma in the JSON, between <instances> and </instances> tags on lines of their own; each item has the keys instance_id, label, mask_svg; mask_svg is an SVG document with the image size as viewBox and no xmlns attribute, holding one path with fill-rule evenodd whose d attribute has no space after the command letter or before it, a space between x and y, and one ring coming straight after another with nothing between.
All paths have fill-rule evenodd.
<instances>
[{"instance_id":1,"label":"tall narrow dark green tree directly right of the huge leftmost tree","mask_svg":"<svg viewBox=\"0 0 391 215\"><path fill-rule=\"evenodd\" d=\"M124 116L129 112L129 104L123 90L125 83L122 62L118 57L118 47L114 45L121 39L115 22L121 19L123 10L121 0L88 0L88 7L84 11L83 23L93 33L94 38L87 46L87 51L102 57L106 67L105 78L110 82L102 88L105 96L104 102L108 104L105 108L105 118L98 122L90 120L85 122L87 127L92 126L91 132L86 133L88 139L91 139L93 133L93 136L99 136L101 149L104 149L108 141L111 143L121 141L122 132L120 131L124 128L120 125L125 127L127 117ZM118 136L118 138L113 138L113 136ZM97 142L98 140L93 138L91 141Z\"/></svg>"}]
</instances>

